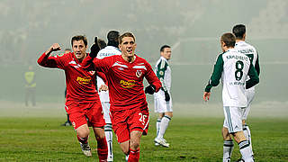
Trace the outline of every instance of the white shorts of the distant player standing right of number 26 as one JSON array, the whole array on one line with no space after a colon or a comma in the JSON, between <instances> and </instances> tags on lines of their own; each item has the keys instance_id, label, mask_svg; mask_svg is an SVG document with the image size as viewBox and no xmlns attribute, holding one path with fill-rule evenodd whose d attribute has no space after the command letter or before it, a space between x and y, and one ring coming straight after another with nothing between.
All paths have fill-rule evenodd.
<instances>
[{"instance_id":1,"label":"white shorts of the distant player standing right of number 26","mask_svg":"<svg viewBox=\"0 0 288 162\"><path fill-rule=\"evenodd\" d=\"M171 96L171 95L170 95ZM164 112L173 112L172 109L172 98L170 101L165 101L165 96L158 96L154 98L155 112L164 113Z\"/></svg>"}]
</instances>

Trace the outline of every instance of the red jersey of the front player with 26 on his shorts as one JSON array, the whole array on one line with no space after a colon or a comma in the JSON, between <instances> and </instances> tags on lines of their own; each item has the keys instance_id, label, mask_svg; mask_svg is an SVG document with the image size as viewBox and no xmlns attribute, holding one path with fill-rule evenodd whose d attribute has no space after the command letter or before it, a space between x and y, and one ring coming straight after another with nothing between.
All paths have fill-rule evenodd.
<instances>
[{"instance_id":1,"label":"red jersey of the front player with 26 on his shorts","mask_svg":"<svg viewBox=\"0 0 288 162\"><path fill-rule=\"evenodd\" d=\"M90 56L83 61L85 67L89 67ZM146 95L144 94L144 77L148 83L156 86L156 91L161 87L161 82L155 75L152 67L144 58L135 55L134 62L124 60L121 55L94 58L94 68L102 71L108 81L109 96L112 111L121 111L139 107L148 109Z\"/></svg>"}]
</instances>

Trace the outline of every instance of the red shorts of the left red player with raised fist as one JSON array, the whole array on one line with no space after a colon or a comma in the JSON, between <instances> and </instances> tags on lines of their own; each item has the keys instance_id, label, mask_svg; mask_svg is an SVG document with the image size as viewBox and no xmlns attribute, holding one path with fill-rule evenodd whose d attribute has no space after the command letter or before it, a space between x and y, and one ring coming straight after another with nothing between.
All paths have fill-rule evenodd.
<instances>
[{"instance_id":1,"label":"red shorts of the left red player with raised fist","mask_svg":"<svg viewBox=\"0 0 288 162\"><path fill-rule=\"evenodd\" d=\"M83 124L88 124L90 127L103 127L105 125L100 102L67 102L65 109L75 130Z\"/></svg>"}]
</instances>

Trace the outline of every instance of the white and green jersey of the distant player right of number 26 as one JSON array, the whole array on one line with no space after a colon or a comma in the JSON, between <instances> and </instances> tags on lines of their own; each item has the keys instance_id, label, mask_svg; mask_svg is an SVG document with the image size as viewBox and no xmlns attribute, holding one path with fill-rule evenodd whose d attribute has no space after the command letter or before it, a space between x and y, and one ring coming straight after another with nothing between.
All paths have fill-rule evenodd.
<instances>
[{"instance_id":1,"label":"white and green jersey of the distant player right of number 26","mask_svg":"<svg viewBox=\"0 0 288 162\"><path fill-rule=\"evenodd\" d=\"M163 90L169 92L171 88L171 68L168 65L168 60L160 57L157 60L154 72L161 81Z\"/></svg>"}]
</instances>

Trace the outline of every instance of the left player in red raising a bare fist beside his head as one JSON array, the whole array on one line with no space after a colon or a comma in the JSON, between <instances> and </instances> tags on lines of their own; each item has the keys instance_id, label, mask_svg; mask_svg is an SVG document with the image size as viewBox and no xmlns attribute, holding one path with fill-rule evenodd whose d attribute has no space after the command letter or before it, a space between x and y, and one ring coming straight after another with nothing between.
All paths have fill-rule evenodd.
<instances>
[{"instance_id":1,"label":"left player in red raising a bare fist beside his head","mask_svg":"<svg viewBox=\"0 0 288 162\"><path fill-rule=\"evenodd\" d=\"M66 111L69 119L76 130L77 139L87 157L91 157L91 148L87 142L92 126L97 140L97 153L99 161L107 161L107 144L104 136L102 106L99 95L95 89L94 71L86 71L80 63L86 58L87 40L85 36L78 35L71 40L73 52L60 54L55 57L49 56L52 51L60 50L58 43L54 43L38 59L42 67L60 68L65 71L67 85ZM97 52L99 49L95 49ZM91 53L96 55L96 53Z\"/></svg>"}]
</instances>

